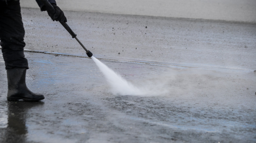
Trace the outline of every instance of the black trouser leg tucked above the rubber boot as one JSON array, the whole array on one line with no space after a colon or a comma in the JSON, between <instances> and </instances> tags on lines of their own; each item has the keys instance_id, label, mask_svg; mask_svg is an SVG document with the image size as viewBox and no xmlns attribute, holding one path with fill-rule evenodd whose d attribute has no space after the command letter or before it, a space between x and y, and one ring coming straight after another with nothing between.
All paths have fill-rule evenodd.
<instances>
[{"instance_id":1,"label":"black trouser leg tucked above the rubber boot","mask_svg":"<svg viewBox=\"0 0 256 143\"><path fill-rule=\"evenodd\" d=\"M6 69L14 67L28 69L28 60L24 56L25 30L22 23L19 1L0 1L0 45Z\"/></svg>"}]
</instances>

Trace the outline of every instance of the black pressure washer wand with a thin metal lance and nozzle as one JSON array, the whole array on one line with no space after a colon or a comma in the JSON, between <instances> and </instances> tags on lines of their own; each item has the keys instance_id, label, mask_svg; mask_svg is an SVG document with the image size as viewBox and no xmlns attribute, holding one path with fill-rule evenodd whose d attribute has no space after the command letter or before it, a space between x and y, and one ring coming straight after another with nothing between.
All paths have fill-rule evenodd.
<instances>
[{"instance_id":1,"label":"black pressure washer wand with a thin metal lance and nozzle","mask_svg":"<svg viewBox=\"0 0 256 143\"><path fill-rule=\"evenodd\" d=\"M41 0L41 2L50 9L51 13L55 13L55 9L53 8L52 4L49 3L48 0ZM87 50L84 45L77 39L76 34L71 30L71 28L69 27L69 25L65 22L60 22L60 24L62 24L62 26L69 32L69 34L72 36L72 38L75 38L75 40L77 40L77 42L84 48L84 50L86 51L86 54L88 57L92 57L93 53L90 52L89 50Z\"/></svg>"}]
</instances>

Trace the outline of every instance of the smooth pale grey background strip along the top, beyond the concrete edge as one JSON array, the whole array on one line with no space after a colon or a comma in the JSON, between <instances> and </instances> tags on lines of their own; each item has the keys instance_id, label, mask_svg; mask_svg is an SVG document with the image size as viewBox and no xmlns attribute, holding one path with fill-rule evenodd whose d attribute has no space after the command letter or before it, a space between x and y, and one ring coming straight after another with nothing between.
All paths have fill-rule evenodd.
<instances>
[{"instance_id":1,"label":"smooth pale grey background strip along the top, beyond the concrete edge","mask_svg":"<svg viewBox=\"0 0 256 143\"><path fill-rule=\"evenodd\" d=\"M255 0L59 0L64 10L256 22ZM34 0L21 5L38 8Z\"/></svg>"}]
</instances>

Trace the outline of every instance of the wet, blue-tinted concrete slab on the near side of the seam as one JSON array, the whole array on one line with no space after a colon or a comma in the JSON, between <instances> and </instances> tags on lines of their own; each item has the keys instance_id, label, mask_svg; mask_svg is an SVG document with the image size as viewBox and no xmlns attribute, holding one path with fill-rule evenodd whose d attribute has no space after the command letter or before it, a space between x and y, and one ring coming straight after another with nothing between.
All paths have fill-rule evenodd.
<instances>
[{"instance_id":1,"label":"wet, blue-tinted concrete slab on the near side of the seam","mask_svg":"<svg viewBox=\"0 0 256 143\"><path fill-rule=\"evenodd\" d=\"M27 85L41 102L7 102L1 63L0 141L255 142L255 73L101 59L134 85L170 90L113 95L92 59L26 52Z\"/></svg>"}]
</instances>

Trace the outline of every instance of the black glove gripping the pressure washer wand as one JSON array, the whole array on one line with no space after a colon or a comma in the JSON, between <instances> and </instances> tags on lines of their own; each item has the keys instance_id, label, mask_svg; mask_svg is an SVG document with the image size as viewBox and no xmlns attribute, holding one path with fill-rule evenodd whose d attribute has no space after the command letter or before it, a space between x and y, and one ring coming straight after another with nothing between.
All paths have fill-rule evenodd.
<instances>
[{"instance_id":1,"label":"black glove gripping the pressure washer wand","mask_svg":"<svg viewBox=\"0 0 256 143\"><path fill-rule=\"evenodd\" d=\"M52 18L54 21L59 21L59 22L67 22L67 18L64 15L64 12L56 5L52 4L53 8L55 9L55 13L52 13L49 9L46 8L48 15Z\"/></svg>"}]
</instances>

